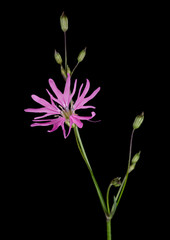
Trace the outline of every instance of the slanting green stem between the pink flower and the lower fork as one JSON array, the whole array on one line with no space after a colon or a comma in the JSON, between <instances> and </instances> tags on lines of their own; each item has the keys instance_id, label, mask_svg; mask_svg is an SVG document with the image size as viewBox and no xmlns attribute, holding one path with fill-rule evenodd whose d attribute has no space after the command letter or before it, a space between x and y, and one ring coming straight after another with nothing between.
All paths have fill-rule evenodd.
<instances>
[{"instance_id":1,"label":"slanting green stem between the pink flower and the lower fork","mask_svg":"<svg viewBox=\"0 0 170 240\"><path fill-rule=\"evenodd\" d=\"M82 155L82 157L83 157L83 159L84 159L84 161L85 161L85 163L86 163L86 165L87 165L87 168L88 168L88 170L89 170L89 172L90 172L90 175L91 175L91 178L92 178L92 180L93 180L94 186L95 186L95 188L96 188L96 191L97 191L97 194L98 194L98 197L99 197L101 206L102 206L102 208L103 208L103 211L104 211L105 215L107 215L107 214L108 214L108 211L107 211L107 207L106 207L104 198L103 198L103 196L102 196L102 193L101 193L101 191L100 191L100 188L99 188L99 185L98 185L98 183L97 183L97 181L96 181L96 178L95 178L95 176L94 176L94 174L93 174L93 171L92 171L92 168L91 168L91 166L90 166L89 160L88 160L88 158L87 158L87 155L86 155L86 152L85 152L83 143L82 143L82 141L81 141L80 134L79 134L79 131L78 131L77 126L74 127L74 134L75 134L75 138L76 138L76 142L77 142L77 146L78 146L78 148L79 148L79 151L80 151L80 153L81 153L81 155Z\"/></svg>"}]
</instances>

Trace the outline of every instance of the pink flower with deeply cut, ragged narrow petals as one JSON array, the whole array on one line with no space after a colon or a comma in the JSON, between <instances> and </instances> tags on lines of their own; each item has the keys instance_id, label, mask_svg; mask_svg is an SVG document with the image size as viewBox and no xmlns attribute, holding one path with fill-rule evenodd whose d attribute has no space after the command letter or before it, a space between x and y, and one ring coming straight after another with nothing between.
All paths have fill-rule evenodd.
<instances>
[{"instance_id":1,"label":"pink flower with deeply cut, ragged narrow petals","mask_svg":"<svg viewBox=\"0 0 170 240\"><path fill-rule=\"evenodd\" d=\"M77 125L77 127L82 128L83 123L81 120L90 120L96 114L95 112L91 112L91 116L79 116L75 113L78 109L87 109L93 108L94 106L85 105L88 101L96 96L96 94L100 91L100 87L98 87L90 96L86 97L86 94L90 88L90 82L86 80L86 86L82 91L83 84L81 84L78 97L75 102L73 102L72 98L76 92L77 80L74 82L74 88L71 93L70 85L71 79L70 74L68 74L64 93L62 93L56 86L55 82L52 79L49 79L49 85L55 94L55 97L47 90L51 103L47 102L45 99L40 98L36 95L32 95L32 99L41 104L41 108L28 108L25 109L25 112L33 112L33 113L44 113L44 115L35 117L33 120L33 124L31 127L35 126L50 126L52 125L52 129L48 132L53 132L58 129L59 126L62 127L64 138L67 138L70 134L71 127L73 124ZM53 118L47 119L46 117L53 116ZM65 123L69 126L68 133L66 134Z\"/></svg>"}]
</instances>

